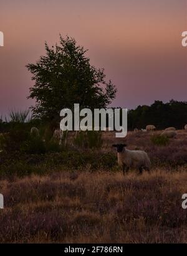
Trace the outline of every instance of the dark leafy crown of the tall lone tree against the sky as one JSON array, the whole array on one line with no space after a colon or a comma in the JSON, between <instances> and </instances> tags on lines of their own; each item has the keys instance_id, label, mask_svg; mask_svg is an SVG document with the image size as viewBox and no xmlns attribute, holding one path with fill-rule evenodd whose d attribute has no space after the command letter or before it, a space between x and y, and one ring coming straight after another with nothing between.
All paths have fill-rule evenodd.
<instances>
[{"instance_id":1,"label":"dark leafy crown of the tall lone tree against the sky","mask_svg":"<svg viewBox=\"0 0 187 256\"><path fill-rule=\"evenodd\" d=\"M60 44L50 48L47 43L46 56L41 56L36 64L27 64L35 81L28 98L36 99L32 106L34 117L59 120L61 109L105 108L115 98L116 87L105 81L103 69L90 65L87 51L77 46L75 39L62 38Z\"/></svg>"}]
</instances>

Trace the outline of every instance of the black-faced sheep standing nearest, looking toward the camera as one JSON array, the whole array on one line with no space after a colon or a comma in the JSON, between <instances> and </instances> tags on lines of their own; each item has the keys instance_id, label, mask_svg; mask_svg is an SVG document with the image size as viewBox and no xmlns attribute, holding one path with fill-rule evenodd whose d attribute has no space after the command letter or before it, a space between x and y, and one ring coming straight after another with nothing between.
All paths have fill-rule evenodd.
<instances>
[{"instance_id":1,"label":"black-faced sheep standing nearest, looking toward the camera","mask_svg":"<svg viewBox=\"0 0 187 256\"><path fill-rule=\"evenodd\" d=\"M151 162L145 151L125 149L127 147L125 144L112 146L117 148L118 165L122 167L123 175L125 175L125 171L128 172L130 167L138 169L140 174L142 174L143 169L150 170Z\"/></svg>"}]
</instances>

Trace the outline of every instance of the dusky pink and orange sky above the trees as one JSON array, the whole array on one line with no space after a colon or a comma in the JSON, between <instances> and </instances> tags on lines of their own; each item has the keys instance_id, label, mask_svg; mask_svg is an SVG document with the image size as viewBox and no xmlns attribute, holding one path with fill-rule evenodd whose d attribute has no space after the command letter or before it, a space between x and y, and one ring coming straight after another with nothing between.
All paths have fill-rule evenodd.
<instances>
[{"instance_id":1,"label":"dusky pink and orange sky above the trees","mask_svg":"<svg viewBox=\"0 0 187 256\"><path fill-rule=\"evenodd\" d=\"M59 33L75 37L91 64L105 68L118 88L112 106L186 101L186 6L187 0L1 0L0 115L33 104L25 65Z\"/></svg>"}]
</instances>

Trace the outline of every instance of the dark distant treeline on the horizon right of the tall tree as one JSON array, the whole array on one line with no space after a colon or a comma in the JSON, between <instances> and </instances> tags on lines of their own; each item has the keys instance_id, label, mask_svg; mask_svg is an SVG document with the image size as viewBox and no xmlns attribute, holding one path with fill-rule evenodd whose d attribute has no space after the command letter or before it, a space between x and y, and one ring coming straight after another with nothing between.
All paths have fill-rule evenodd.
<instances>
[{"instance_id":1,"label":"dark distant treeline on the horizon right of the tall tree","mask_svg":"<svg viewBox=\"0 0 187 256\"><path fill-rule=\"evenodd\" d=\"M128 111L128 129L141 129L148 124L155 125L156 129L165 129L170 126L184 129L187 124L187 102L155 101L151 106L138 106Z\"/></svg>"}]
</instances>

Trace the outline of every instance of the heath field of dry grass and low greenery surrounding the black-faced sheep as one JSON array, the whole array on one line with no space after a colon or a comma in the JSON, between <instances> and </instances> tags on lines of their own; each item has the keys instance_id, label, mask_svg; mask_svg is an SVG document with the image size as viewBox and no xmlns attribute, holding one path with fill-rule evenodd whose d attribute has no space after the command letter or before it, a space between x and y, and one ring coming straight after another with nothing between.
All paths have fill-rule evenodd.
<instances>
[{"instance_id":1,"label":"heath field of dry grass and low greenery surrounding the black-faced sheep","mask_svg":"<svg viewBox=\"0 0 187 256\"><path fill-rule=\"evenodd\" d=\"M119 140L148 152L152 169L143 175L122 175L113 132L103 133L99 150L2 152L0 242L187 242L187 132L164 146L152 135Z\"/></svg>"}]
</instances>

